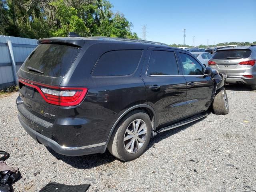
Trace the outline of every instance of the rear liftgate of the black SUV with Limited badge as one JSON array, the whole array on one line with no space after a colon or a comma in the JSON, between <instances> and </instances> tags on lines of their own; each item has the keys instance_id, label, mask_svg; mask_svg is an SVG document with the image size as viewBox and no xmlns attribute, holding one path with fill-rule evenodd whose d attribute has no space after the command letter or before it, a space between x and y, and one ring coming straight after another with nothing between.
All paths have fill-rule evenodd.
<instances>
[{"instance_id":1,"label":"rear liftgate of the black SUV with Limited badge","mask_svg":"<svg viewBox=\"0 0 256 192\"><path fill-rule=\"evenodd\" d=\"M53 123L60 101L66 99L66 106L72 106L70 103L82 94L83 90L78 90L77 94L76 90L59 86L80 50L79 45L66 40L40 40L39 45L18 71L20 97L24 103L22 107ZM64 99L60 95L64 96Z\"/></svg>"}]
</instances>

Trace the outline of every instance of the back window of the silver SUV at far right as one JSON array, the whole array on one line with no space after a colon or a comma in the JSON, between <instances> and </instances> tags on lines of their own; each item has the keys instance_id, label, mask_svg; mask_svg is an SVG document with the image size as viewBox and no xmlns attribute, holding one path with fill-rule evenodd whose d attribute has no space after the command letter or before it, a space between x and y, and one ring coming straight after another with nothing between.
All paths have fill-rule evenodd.
<instances>
[{"instance_id":1,"label":"back window of the silver SUV at far right","mask_svg":"<svg viewBox=\"0 0 256 192\"><path fill-rule=\"evenodd\" d=\"M212 57L213 59L241 59L248 58L251 55L251 50L223 50L218 51Z\"/></svg>"}]
</instances>

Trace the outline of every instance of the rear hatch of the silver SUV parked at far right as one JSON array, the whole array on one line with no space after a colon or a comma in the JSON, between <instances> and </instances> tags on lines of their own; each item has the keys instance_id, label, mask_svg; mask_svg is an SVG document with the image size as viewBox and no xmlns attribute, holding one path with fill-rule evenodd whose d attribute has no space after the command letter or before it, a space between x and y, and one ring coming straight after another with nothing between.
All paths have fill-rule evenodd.
<instances>
[{"instance_id":1,"label":"rear hatch of the silver SUV parked at far right","mask_svg":"<svg viewBox=\"0 0 256 192\"><path fill-rule=\"evenodd\" d=\"M252 67L243 64L248 60L251 53L250 49L218 50L211 59L216 65L211 65L211 67L227 73L243 73Z\"/></svg>"}]
</instances>

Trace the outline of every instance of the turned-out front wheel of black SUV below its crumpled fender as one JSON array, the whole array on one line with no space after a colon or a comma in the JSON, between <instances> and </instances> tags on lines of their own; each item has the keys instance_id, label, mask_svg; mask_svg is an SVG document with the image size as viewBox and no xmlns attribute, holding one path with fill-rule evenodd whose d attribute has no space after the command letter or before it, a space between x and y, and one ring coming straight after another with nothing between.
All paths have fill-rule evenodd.
<instances>
[{"instance_id":1,"label":"turned-out front wheel of black SUV below its crumpled fender","mask_svg":"<svg viewBox=\"0 0 256 192\"><path fill-rule=\"evenodd\" d=\"M212 102L214 114L226 115L229 112L228 96L224 87L218 90Z\"/></svg>"}]
</instances>

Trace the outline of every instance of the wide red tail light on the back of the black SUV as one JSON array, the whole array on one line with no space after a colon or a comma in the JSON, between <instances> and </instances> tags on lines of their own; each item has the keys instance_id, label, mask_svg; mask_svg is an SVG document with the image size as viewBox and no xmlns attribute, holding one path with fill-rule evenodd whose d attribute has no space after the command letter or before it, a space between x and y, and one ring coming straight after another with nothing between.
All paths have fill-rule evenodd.
<instances>
[{"instance_id":1,"label":"wide red tail light on the back of the black SUV","mask_svg":"<svg viewBox=\"0 0 256 192\"><path fill-rule=\"evenodd\" d=\"M84 100L88 92L88 88L49 86L22 78L19 81L38 90L46 102L60 106L76 106Z\"/></svg>"}]
</instances>

